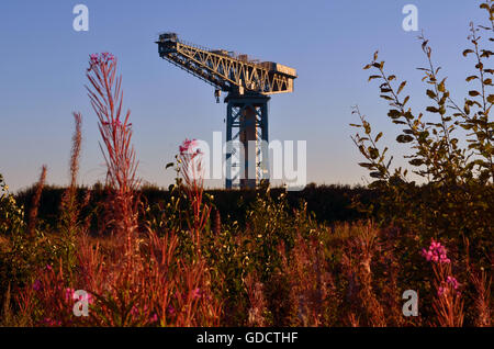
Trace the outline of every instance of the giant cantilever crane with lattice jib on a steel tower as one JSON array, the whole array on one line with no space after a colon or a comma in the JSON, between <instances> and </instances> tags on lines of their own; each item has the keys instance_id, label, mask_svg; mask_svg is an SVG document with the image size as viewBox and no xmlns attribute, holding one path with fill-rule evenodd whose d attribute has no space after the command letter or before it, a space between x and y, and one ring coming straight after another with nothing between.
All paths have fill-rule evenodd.
<instances>
[{"instance_id":1,"label":"giant cantilever crane with lattice jib on a steel tower","mask_svg":"<svg viewBox=\"0 0 494 349\"><path fill-rule=\"evenodd\" d=\"M176 33L160 34L156 43L161 58L211 83L217 103L221 91L228 93L224 99L226 188L256 188L261 180L269 181L268 101L271 94L293 91L295 69L193 45L179 40ZM243 145L243 151L233 146L235 140ZM249 159L255 159L254 166Z\"/></svg>"}]
</instances>

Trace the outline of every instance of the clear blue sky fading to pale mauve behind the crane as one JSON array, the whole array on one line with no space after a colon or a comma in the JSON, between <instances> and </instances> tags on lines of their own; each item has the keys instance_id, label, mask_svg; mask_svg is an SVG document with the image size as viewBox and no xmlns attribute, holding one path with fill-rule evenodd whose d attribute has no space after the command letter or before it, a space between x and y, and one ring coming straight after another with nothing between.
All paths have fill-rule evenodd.
<instances>
[{"instance_id":1,"label":"clear blue sky fading to pale mauve behind the crane","mask_svg":"<svg viewBox=\"0 0 494 349\"><path fill-rule=\"evenodd\" d=\"M89 31L72 29L72 8L89 8ZM213 88L158 56L154 41L173 31L186 41L246 53L297 69L295 91L270 102L270 139L307 142L307 180L364 183L367 172L350 135L351 106L359 104L383 143L396 128L385 116L375 83L361 68L375 49L389 72L408 80L406 92L426 101L416 67L424 55L419 32L405 32L402 9L418 8L418 25L430 38L449 87L464 91L461 56L469 22L485 23L476 0L249 0L0 2L0 173L13 190L34 182L43 164L49 183L68 182L72 111L83 115L80 182L104 180L97 117L83 85L88 55L119 57L124 104L132 110L138 174L158 185L172 182L164 166L186 137L212 139L223 131L226 105ZM355 121L355 120L353 120ZM392 146L394 154L403 148ZM398 162L400 164L400 162Z\"/></svg>"}]
</instances>

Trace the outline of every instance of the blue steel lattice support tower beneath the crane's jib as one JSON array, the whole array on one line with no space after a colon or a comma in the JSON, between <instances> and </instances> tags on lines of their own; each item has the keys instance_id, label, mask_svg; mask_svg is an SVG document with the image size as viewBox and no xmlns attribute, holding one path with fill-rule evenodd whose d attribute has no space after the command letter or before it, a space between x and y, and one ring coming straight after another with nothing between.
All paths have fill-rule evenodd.
<instances>
[{"instance_id":1,"label":"blue steel lattice support tower beneath the crane's jib","mask_svg":"<svg viewBox=\"0 0 494 349\"><path fill-rule=\"evenodd\" d=\"M255 189L269 181L268 101L261 94L228 94L226 109L226 189Z\"/></svg>"}]
</instances>

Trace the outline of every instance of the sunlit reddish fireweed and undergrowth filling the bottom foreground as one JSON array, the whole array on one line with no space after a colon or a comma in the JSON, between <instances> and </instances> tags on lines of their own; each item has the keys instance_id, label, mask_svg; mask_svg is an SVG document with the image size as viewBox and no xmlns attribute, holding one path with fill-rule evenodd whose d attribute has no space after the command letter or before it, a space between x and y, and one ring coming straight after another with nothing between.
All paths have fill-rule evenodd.
<instances>
[{"instance_id":1,"label":"sunlit reddish fireweed and undergrowth filling the bottom foreground","mask_svg":"<svg viewBox=\"0 0 494 349\"><path fill-rule=\"evenodd\" d=\"M326 227L304 207L284 211L283 201L260 192L249 226L213 215L193 234L207 210L201 202L199 214L176 212L172 229L148 222L131 245L81 232L72 240L74 268L38 259L22 283L9 280L2 325L491 325L490 280L453 245L427 244L420 252L417 235L371 222ZM169 219L169 210L155 223ZM413 264L403 263L409 256ZM88 317L72 314L76 290L89 293ZM405 290L419 294L417 317L402 314Z\"/></svg>"}]
</instances>

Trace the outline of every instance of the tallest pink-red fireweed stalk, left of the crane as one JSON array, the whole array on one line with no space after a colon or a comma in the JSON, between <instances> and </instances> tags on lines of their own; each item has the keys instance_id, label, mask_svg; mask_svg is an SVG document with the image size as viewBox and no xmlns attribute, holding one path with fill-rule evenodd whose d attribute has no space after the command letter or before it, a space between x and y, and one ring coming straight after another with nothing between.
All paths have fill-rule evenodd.
<instances>
[{"instance_id":1,"label":"tallest pink-red fireweed stalk, left of the crane","mask_svg":"<svg viewBox=\"0 0 494 349\"><path fill-rule=\"evenodd\" d=\"M90 87L86 88L103 139L100 148L108 167L106 184L112 191L109 221L116 234L126 236L127 252L131 252L131 236L137 228L138 200L135 193L139 185L136 178L138 161L131 144L131 111L122 113L122 76L116 77L116 58L109 53L92 54L87 78Z\"/></svg>"}]
</instances>

